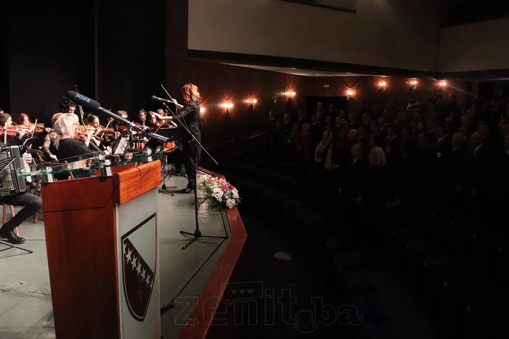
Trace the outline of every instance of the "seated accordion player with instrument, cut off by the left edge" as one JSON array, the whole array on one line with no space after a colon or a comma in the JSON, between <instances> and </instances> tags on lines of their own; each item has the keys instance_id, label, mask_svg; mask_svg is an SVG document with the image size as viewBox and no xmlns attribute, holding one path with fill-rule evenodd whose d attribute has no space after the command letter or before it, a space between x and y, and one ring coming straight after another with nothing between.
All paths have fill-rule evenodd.
<instances>
[{"instance_id":1,"label":"seated accordion player with instrument, cut off by the left edge","mask_svg":"<svg viewBox=\"0 0 509 339\"><path fill-rule=\"evenodd\" d=\"M14 161L0 171L0 204L23 206L9 221L4 220L5 224L0 228L0 238L7 238L16 244L25 242L25 239L17 236L14 229L42 207L41 198L26 192L24 179L16 174L16 169L22 164L32 163L32 155L26 150L24 146L9 147L0 142L0 161L15 157Z\"/></svg>"}]
</instances>

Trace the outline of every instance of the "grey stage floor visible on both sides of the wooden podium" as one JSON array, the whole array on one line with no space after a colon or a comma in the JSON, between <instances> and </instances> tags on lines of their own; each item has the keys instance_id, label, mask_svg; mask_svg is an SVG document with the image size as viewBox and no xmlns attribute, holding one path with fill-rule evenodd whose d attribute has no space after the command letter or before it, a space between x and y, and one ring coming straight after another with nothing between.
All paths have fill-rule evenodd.
<instances>
[{"instance_id":1,"label":"grey stage floor visible on both sides of the wooden podium","mask_svg":"<svg viewBox=\"0 0 509 339\"><path fill-rule=\"evenodd\" d=\"M180 332L185 316L201 294L228 242L228 239L203 237L182 250L192 237L179 232L193 233L196 226L194 194L180 191L186 184L184 177L172 176L166 180L166 186L177 186L169 189L175 196L159 191L161 307L175 303L175 307L168 307L161 315L164 339L174 338ZM18 210L15 207L15 211ZM10 210L7 215L10 218ZM225 213L202 205L198 219L203 235L231 236ZM26 239L21 246L34 253L17 249L0 252L0 339L55 337L43 220L44 214L37 224L31 218L19 228L20 236ZM4 247L0 244L0 250Z\"/></svg>"}]
</instances>

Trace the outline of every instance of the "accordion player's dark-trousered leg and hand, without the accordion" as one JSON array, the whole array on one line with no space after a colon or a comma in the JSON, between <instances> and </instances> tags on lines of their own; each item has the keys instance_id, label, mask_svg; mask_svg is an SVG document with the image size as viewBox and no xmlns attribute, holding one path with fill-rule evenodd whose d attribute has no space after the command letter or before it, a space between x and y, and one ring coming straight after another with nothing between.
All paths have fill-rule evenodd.
<instances>
[{"instance_id":1,"label":"accordion player's dark-trousered leg and hand, without the accordion","mask_svg":"<svg viewBox=\"0 0 509 339\"><path fill-rule=\"evenodd\" d=\"M0 146L6 145L3 142L0 142ZM32 155L29 152L24 153L23 158L27 164L32 163ZM16 235L14 229L41 209L41 198L27 192L22 192L16 195L0 197L0 204L24 206L14 217L12 217L11 220L6 222L2 228L0 228L0 238L7 238L11 243L25 242L24 238Z\"/></svg>"}]
</instances>

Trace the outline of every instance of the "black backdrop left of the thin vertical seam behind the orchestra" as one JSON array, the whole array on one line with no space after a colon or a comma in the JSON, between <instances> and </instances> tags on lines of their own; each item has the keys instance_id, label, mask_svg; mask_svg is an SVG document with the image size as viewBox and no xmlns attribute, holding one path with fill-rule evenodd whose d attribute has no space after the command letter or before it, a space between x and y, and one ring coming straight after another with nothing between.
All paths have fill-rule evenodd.
<instances>
[{"instance_id":1,"label":"black backdrop left of the thin vertical seam behind the orchestra","mask_svg":"<svg viewBox=\"0 0 509 339\"><path fill-rule=\"evenodd\" d=\"M94 7L78 2L9 2L6 6L7 67L14 117L39 121L59 111L62 96L94 85Z\"/></svg>"}]
</instances>

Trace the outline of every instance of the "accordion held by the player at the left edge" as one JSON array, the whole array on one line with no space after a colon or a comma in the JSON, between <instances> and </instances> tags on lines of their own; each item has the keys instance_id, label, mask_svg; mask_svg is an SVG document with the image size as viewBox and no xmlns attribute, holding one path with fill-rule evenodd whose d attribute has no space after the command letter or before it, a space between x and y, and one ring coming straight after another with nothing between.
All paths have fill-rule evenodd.
<instances>
[{"instance_id":1,"label":"accordion held by the player at the left edge","mask_svg":"<svg viewBox=\"0 0 509 339\"><path fill-rule=\"evenodd\" d=\"M32 177L18 177L17 168L27 168L30 170L30 166L25 162L22 157L23 153L27 151L26 146L10 146L0 148L0 163L8 158L13 158L12 161L7 161L9 164L5 167L0 167L0 197L6 197L9 195L15 195L18 193L26 192L28 186L26 182L31 182Z\"/></svg>"}]
</instances>

